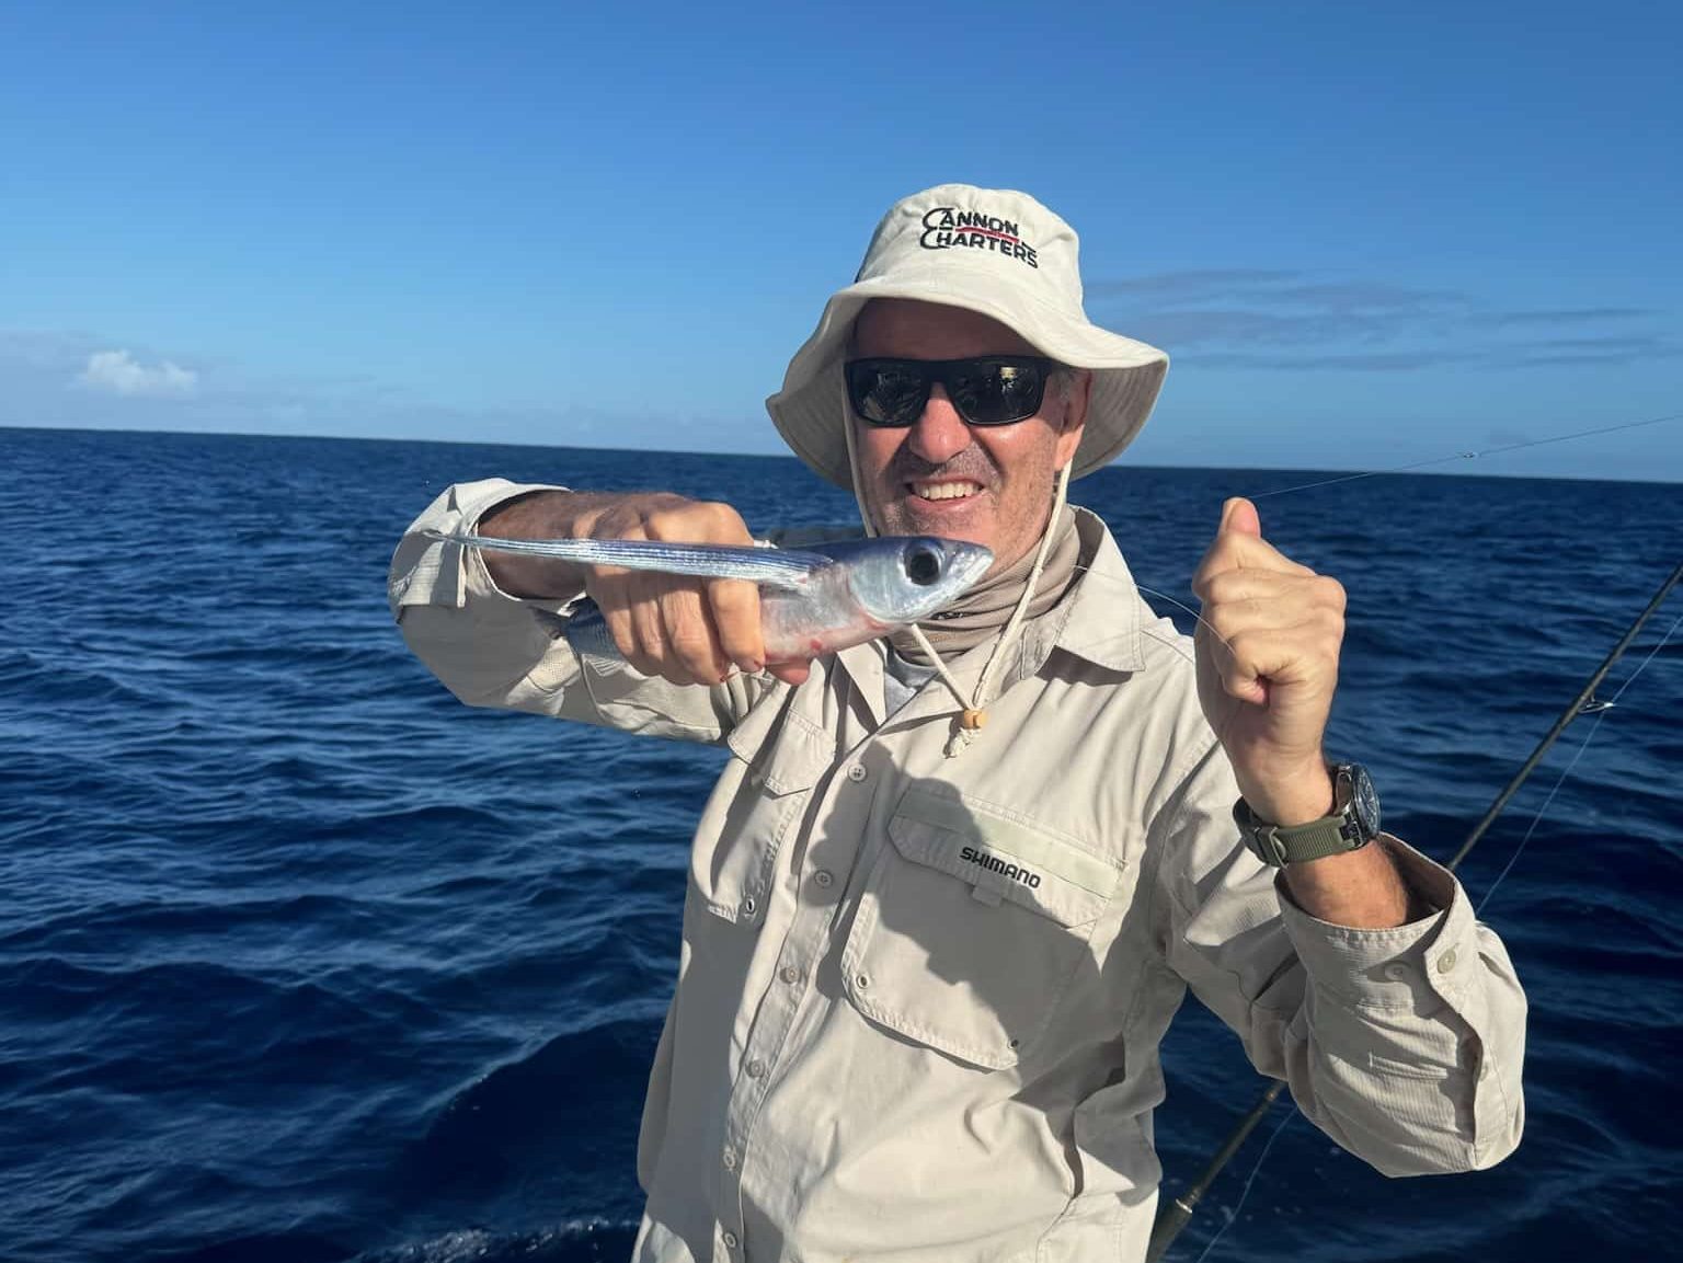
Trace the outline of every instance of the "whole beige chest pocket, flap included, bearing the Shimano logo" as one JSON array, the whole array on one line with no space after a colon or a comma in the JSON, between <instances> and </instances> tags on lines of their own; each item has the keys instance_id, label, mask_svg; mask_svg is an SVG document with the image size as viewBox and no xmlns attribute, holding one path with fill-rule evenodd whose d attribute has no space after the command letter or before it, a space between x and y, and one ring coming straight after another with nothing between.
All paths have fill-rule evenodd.
<instances>
[{"instance_id":1,"label":"whole beige chest pocket, flap included, bearing the Shimano logo","mask_svg":"<svg viewBox=\"0 0 1683 1263\"><path fill-rule=\"evenodd\" d=\"M1045 1034L1123 869L1072 839L912 789L889 819L842 954L853 1007L988 1070Z\"/></svg>"}]
</instances>

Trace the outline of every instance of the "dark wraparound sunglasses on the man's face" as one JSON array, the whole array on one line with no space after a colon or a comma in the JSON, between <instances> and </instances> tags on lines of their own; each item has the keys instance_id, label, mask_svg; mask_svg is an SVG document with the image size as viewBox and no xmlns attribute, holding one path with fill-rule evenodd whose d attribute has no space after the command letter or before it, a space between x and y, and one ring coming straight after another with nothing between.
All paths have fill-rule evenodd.
<instances>
[{"instance_id":1,"label":"dark wraparound sunglasses on the man's face","mask_svg":"<svg viewBox=\"0 0 1683 1263\"><path fill-rule=\"evenodd\" d=\"M1010 425L1040 410L1057 365L1037 355L978 355L971 360L848 360L847 397L867 425L912 425L939 382L971 425Z\"/></svg>"}]
</instances>

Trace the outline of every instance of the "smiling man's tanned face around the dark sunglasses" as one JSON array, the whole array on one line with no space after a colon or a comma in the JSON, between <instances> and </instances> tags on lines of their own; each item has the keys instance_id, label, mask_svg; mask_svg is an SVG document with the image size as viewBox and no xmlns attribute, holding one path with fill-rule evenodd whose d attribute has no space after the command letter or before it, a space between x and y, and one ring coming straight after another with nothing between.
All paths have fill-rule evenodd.
<instances>
[{"instance_id":1,"label":"smiling man's tanned face around the dark sunglasses","mask_svg":"<svg viewBox=\"0 0 1683 1263\"><path fill-rule=\"evenodd\" d=\"M905 298L872 299L853 326L855 358L1038 353L996 320ZM1049 383L1040 410L1010 425L968 425L939 383L905 429L852 417L860 491L877 530L969 540L993 550L990 575L1010 567L1045 533L1057 471L1080 444L1091 380Z\"/></svg>"}]
</instances>

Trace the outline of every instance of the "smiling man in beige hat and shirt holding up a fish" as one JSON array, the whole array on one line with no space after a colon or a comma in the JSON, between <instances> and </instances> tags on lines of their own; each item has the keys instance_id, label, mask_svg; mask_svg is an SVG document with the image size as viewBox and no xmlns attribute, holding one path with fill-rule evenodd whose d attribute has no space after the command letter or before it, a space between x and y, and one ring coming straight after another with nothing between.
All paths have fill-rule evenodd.
<instances>
[{"instance_id":1,"label":"smiling man in beige hat and shirt holding up a fish","mask_svg":"<svg viewBox=\"0 0 1683 1263\"><path fill-rule=\"evenodd\" d=\"M1508 957L1321 748L1338 584L1230 501L1193 651L1064 505L1165 370L1087 323L1067 224L944 185L889 212L769 410L867 530L993 550L948 617L766 673L749 585L421 535L749 540L677 496L465 484L399 547L396 616L463 701L734 755L693 841L638 1260L1143 1258L1188 986L1380 1171L1518 1144ZM582 594L626 666L555 634Z\"/></svg>"}]
</instances>

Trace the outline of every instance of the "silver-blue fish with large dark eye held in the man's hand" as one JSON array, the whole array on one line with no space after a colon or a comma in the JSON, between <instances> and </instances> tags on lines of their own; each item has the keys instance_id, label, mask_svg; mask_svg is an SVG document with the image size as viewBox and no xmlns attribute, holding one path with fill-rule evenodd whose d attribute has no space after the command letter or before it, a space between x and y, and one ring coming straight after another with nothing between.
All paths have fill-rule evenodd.
<instances>
[{"instance_id":1,"label":"silver-blue fish with large dark eye held in the man's hand","mask_svg":"<svg viewBox=\"0 0 1683 1263\"><path fill-rule=\"evenodd\" d=\"M993 553L980 543L922 535L788 552L653 540L498 540L443 533L434 538L582 565L746 579L761 590L767 663L808 661L927 619L968 592L993 563ZM594 607L574 614L565 636L577 653L618 656Z\"/></svg>"}]
</instances>

